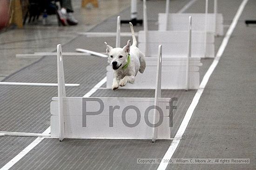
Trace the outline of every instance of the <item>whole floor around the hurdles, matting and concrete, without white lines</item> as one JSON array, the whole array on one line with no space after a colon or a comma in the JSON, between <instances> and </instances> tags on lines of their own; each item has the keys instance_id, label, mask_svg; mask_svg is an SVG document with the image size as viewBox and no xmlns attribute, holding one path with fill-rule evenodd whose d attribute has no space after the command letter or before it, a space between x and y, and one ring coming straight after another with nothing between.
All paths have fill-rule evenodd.
<instances>
[{"instance_id":1,"label":"whole floor around the hurdles, matting and concrete, without white lines","mask_svg":"<svg viewBox=\"0 0 256 170\"><path fill-rule=\"evenodd\" d=\"M178 12L190 0L171 0L171 12ZM225 32L243 0L219 1ZM75 48L104 52L104 38L85 38L76 32L111 31L115 16L129 19L130 0L100 0L99 8L82 9L80 0L73 0L77 26L59 27L55 16L48 25L27 24L23 29L0 32L0 79L7 81L56 82L56 63L52 57L16 58L18 53L51 52L56 44L63 51ZM149 29L157 29L157 13L165 10L165 0L148 0ZM238 20L229 43L204 89L189 125L172 158L250 158L250 164L169 164L167 170L255 170L256 169L256 27L244 25L245 19L256 16L256 2L249 0ZM141 8L138 0L138 9ZM209 0L209 12L212 12ZM195 0L185 12L204 12L204 0ZM142 10L139 11L139 18ZM114 26L113 26L114 24ZM136 26L135 31L142 26ZM122 25L122 31L129 31ZM216 38L216 51L223 37ZM122 38L121 43L126 39ZM115 38L108 38L114 43ZM204 76L212 60L202 59ZM82 96L105 76L107 61L98 57L67 57L64 68L66 82L79 82L79 88L67 88L68 96ZM100 69L97 69L100 68ZM38 71L40 70L40 71ZM47 74L48 71L48 74ZM78 75L78 76L77 76ZM90 80L89 82L87 80ZM43 132L49 126L49 103L57 95L56 88L0 86L0 131ZM195 90L167 90L162 95L179 97L175 112L173 137L188 109ZM38 97L40 96L40 98ZM98 90L93 96L154 96L152 90ZM36 138L0 138L0 168ZM13 170L155 170L159 164L136 164L136 158L162 158L172 141L158 140L85 140L43 139ZM0 169L2 170L2 169Z\"/></svg>"}]
</instances>

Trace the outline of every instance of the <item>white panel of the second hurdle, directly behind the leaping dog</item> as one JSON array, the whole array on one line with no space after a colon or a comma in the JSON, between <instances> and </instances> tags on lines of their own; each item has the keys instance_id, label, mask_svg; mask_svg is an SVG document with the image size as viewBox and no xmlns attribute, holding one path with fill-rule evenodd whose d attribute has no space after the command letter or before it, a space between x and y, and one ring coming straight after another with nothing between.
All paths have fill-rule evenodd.
<instances>
[{"instance_id":1,"label":"white panel of the second hurdle, directly behind the leaping dog","mask_svg":"<svg viewBox=\"0 0 256 170\"><path fill-rule=\"evenodd\" d=\"M165 49L163 49L165 50ZM156 49L157 51L157 49ZM147 67L143 74L138 73L134 84L127 83L124 89L155 89L157 57L145 57ZM200 83L200 58L189 59L189 89L197 89ZM187 57L162 58L162 89L186 89ZM112 88L113 69L107 66L107 88Z\"/></svg>"}]
</instances>

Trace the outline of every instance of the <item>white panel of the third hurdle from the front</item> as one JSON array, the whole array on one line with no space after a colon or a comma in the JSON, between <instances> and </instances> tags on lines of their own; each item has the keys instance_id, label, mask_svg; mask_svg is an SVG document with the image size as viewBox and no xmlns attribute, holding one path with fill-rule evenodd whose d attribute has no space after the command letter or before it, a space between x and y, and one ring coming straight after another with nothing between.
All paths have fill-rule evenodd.
<instances>
[{"instance_id":1,"label":"white panel of the third hurdle from the front","mask_svg":"<svg viewBox=\"0 0 256 170\"><path fill-rule=\"evenodd\" d=\"M188 28L189 25L187 30ZM150 54L150 57L157 56L158 44L163 45L163 57L188 56L189 31L148 31L147 39L145 39L144 31L139 31L138 34L139 49L145 54ZM192 31L191 57L205 57L204 36L202 31ZM147 44L147 49L145 44ZM214 34L212 32L207 32L206 54L207 57L215 56Z\"/></svg>"}]
</instances>

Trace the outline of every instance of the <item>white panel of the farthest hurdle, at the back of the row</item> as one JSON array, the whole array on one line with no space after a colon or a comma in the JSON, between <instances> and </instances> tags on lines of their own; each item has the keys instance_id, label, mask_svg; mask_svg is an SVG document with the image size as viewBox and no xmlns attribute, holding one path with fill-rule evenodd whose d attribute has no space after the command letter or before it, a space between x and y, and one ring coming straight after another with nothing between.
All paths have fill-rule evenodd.
<instances>
[{"instance_id":1,"label":"white panel of the farthest hurdle, at the back of the row","mask_svg":"<svg viewBox=\"0 0 256 170\"><path fill-rule=\"evenodd\" d=\"M168 15L168 31L186 31L188 29L189 23L188 18L192 16L193 18L193 31L205 31L205 13L169 13ZM158 14L158 30L166 30L166 13ZM216 22L216 31L215 31ZM216 33L216 35L223 36L223 16L222 13L208 13L207 14L207 31Z\"/></svg>"}]
</instances>

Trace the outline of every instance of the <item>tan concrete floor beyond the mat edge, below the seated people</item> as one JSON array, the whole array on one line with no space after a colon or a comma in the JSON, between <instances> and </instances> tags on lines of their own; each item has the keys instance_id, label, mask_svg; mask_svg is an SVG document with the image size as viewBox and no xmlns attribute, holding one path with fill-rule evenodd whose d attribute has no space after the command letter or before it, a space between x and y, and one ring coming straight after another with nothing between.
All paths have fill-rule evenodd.
<instances>
[{"instance_id":1,"label":"tan concrete floor beyond the mat edge, below the seated people","mask_svg":"<svg viewBox=\"0 0 256 170\"><path fill-rule=\"evenodd\" d=\"M56 50L56 44L67 44L78 37L77 32L89 31L130 5L128 0L99 0L99 8L81 8L80 0L72 3L74 17L79 21L76 26L58 26L56 16L52 15L48 16L47 25L42 25L40 17L22 29L10 28L0 32L0 80L39 59L16 58L15 54L52 52Z\"/></svg>"}]
</instances>

